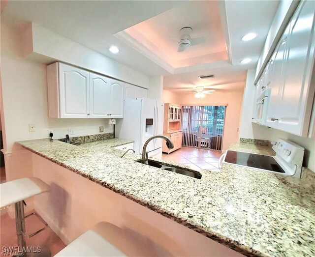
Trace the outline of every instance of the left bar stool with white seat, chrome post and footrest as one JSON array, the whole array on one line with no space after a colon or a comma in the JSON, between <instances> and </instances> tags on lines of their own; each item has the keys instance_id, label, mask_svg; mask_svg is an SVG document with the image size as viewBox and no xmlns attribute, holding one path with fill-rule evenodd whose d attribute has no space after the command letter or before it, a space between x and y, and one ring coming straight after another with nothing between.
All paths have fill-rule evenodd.
<instances>
[{"instance_id":1,"label":"left bar stool with white seat, chrome post and footrest","mask_svg":"<svg viewBox=\"0 0 315 257\"><path fill-rule=\"evenodd\" d=\"M48 191L50 191L50 186L37 177L25 177L0 184L0 209L4 209L13 203L15 204L15 225L19 252L25 252L25 238L30 238L47 227L47 223L35 212L24 217L23 204L26 205L24 200ZM27 235L25 233L24 220L32 215L36 215L45 227Z\"/></svg>"}]
</instances>

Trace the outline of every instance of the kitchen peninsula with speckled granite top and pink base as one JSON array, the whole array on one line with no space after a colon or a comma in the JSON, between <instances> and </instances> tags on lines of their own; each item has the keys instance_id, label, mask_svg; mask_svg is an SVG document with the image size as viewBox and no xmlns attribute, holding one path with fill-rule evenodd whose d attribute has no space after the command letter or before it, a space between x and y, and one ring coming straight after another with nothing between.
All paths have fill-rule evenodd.
<instances>
[{"instance_id":1,"label":"kitchen peninsula with speckled granite top and pink base","mask_svg":"<svg viewBox=\"0 0 315 257\"><path fill-rule=\"evenodd\" d=\"M199 180L136 163L141 156L130 152L121 158L124 152L113 147L127 143L114 138L80 145L50 139L18 142L33 153L33 175L53 185L34 206L65 242L106 219L128 224L171 255L209 254L210 245L217 256L224 251L233 256L315 254L314 178L305 179L314 174L307 169L297 179L224 164L221 172L199 171ZM266 146L248 143L231 149L272 154ZM43 164L48 169L41 169ZM193 249L181 245L183 232ZM198 250L202 243L204 249Z\"/></svg>"}]
</instances>

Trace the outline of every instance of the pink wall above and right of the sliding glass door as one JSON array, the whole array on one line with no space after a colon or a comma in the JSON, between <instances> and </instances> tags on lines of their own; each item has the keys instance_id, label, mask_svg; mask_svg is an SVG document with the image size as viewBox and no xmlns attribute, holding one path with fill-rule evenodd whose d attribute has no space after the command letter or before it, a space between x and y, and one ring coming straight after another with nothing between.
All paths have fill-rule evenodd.
<instances>
[{"instance_id":1,"label":"pink wall above and right of the sliding glass door","mask_svg":"<svg viewBox=\"0 0 315 257\"><path fill-rule=\"evenodd\" d=\"M229 148L231 143L239 142L239 124L242 110L243 90L220 91L206 95L203 99L196 99L193 94L176 94L163 90L163 101L179 105L227 105L225 114L222 151Z\"/></svg>"}]
</instances>

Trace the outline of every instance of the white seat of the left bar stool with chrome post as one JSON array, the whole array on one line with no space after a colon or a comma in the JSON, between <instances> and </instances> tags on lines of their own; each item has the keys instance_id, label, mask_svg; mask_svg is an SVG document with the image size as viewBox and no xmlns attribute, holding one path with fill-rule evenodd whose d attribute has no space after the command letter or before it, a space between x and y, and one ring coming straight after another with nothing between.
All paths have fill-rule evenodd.
<instances>
[{"instance_id":1,"label":"white seat of the left bar stool with chrome post","mask_svg":"<svg viewBox=\"0 0 315 257\"><path fill-rule=\"evenodd\" d=\"M0 209L18 201L50 191L37 177L25 177L0 184Z\"/></svg>"}]
</instances>

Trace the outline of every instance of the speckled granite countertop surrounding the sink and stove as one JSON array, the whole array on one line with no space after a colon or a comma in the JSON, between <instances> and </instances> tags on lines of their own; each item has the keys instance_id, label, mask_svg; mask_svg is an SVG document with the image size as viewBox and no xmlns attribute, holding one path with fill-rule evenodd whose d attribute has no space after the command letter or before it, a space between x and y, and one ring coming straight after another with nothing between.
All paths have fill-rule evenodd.
<instances>
[{"instance_id":1,"label":"speckled granite countertop surrounding the sink and stove","mask_svg":"<svg viewBox=\"0 0 315 257\"><path fill-rule=\"evenodd\" d=\"M18 143L246 256L315 256L315 173L307 169L298 179L223 164L195 179L136 163L141 156L130 151L121 159L113 147L131 143L122 139ZM274 155L248 143L231 149Z\"/></svg>"}]
</instances>

